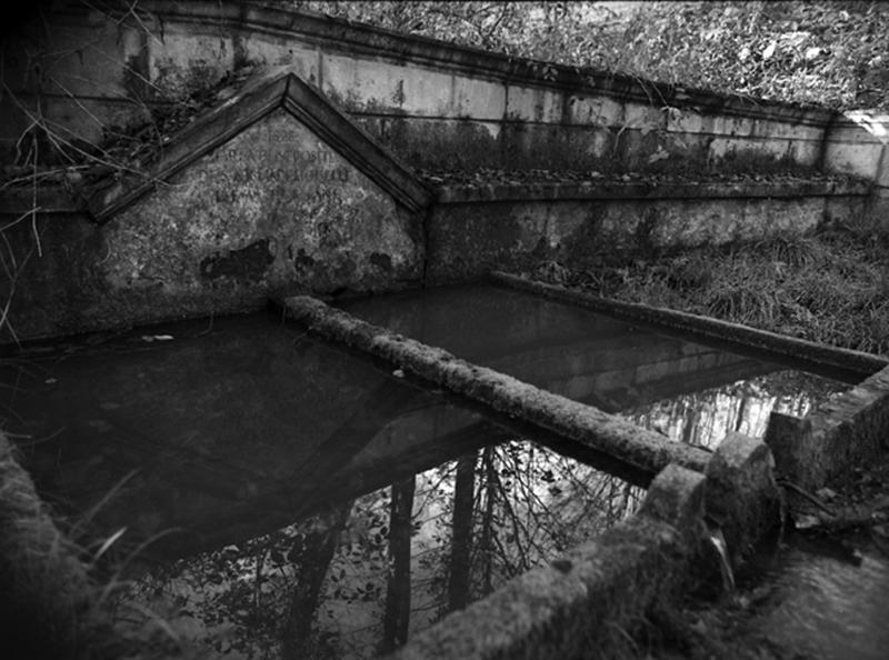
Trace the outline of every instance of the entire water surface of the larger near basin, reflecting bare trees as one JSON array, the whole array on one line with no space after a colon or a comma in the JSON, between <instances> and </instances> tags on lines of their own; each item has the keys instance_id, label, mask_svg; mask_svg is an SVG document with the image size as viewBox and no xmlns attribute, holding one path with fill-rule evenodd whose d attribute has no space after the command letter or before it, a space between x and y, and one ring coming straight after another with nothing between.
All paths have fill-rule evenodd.
<instances>
[{"instance_id":1,"label":"entire water surface of the larger near basin, reflecting bare trees","mask_svg":"<svg viewBox=\"0 0 889 660\"><path fill-rule=\"evenodd\" d=\"M227 658L369 657L643 491L268 316L3 361L41 493L127 561L120 617ZM94 539L100 541L94 541Z\"/></svg>"}]
</instances>

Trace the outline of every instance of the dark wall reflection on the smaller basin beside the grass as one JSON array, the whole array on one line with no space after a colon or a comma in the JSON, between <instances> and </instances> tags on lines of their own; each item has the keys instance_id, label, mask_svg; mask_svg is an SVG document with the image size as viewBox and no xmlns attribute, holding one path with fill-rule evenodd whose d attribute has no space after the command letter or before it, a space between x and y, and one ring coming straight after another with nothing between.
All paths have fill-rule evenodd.
<instances>
[{"instance_id":1,"label":"dark wall reflection on the smaller basin beside the grass","mask_svg":"<svg viewBox=\"0 0 889 660\"><path fill-rule=\"evenodd\" d=\"M846 389L837 381L775 362L486 284L408 291L342 307L372 323L612 413L680 400L688 412L711 398L715 388L743 398L739 388L747 387L751 409L745 414L756 422L757 397L792 398L812 387L817 391ZM769 378L757 380L765 376ZM769 393L740 382L768 383ZM691 397L683 399L686 394ZM717 407L726 406L719 402ZM752 428L750 432L759 433Z\"/></svg>"}]
</instances>

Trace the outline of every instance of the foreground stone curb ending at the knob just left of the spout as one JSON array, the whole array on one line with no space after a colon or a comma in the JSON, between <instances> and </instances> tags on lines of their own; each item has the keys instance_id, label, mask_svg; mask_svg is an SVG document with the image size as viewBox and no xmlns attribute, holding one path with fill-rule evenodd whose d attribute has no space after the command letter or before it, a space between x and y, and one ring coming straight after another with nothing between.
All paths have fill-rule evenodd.
<instances>
[{"instance_id":1,"label":"foreground stone curb ending at the knob just left of the spout","mask_svg":"<svg viewBox=\"0 0 889 660\"><path fill-rule=\"evenodd\" d=\"M589 658L592 649L615 657L647 613L682 592L703 529L705 484L702 474L668 466L633 517L448 614L390 658Z\"/></svg>"}]
</instances>

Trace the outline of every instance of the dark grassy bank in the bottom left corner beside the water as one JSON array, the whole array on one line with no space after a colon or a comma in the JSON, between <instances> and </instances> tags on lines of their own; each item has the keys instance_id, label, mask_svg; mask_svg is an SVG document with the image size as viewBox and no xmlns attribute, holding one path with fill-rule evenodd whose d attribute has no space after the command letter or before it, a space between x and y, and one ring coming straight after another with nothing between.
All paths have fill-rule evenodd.
<instances>
[{"instance_id":1,"label":"dark grassy bank in the bottom left corner beside the water","mask_svg":"<svg viewBox=\"0 0 889 660\"><path fill-rule=\"evenodd\" d=\"M166 623L124 626L113 592L126 582L99 576L122 530L89 551L39 498L14 446L0 432L0 621L3 658L106 660L194 658L163 632ZM146 619L147 617L142 617Z\"/></svg>"}]
</instances>

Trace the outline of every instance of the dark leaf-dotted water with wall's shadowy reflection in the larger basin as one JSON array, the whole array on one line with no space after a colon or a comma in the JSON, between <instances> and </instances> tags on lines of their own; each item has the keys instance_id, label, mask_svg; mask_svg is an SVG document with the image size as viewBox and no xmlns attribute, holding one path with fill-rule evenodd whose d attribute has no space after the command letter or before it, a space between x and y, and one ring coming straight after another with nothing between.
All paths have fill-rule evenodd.
<instances>
[{"instance_id":1,"label":"dark leaf-dotted water with wall's shadowy reflection in the larger basin","mask_svg":"<svg viewBox=\"0 0 889 660\"><path fill-rule=\"evenodd\" d=\"M174 339L124 334L0 368L2 426L40 491L73 514L101 503L97 533L126 526L133 544L187 530L152 556L253 537L503 432L264 317L163 330Z\"/></svg>"}]
</instances>

